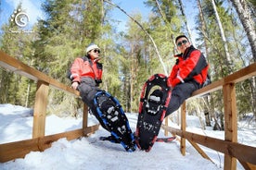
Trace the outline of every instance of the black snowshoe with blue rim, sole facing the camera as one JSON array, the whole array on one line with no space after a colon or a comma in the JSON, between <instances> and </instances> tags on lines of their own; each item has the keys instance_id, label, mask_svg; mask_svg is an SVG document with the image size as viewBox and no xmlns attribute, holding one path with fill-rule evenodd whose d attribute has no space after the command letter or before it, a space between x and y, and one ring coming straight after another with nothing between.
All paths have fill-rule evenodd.
<instances>
[{"instance_id":1,"label":"black snowshoe with blue rim, sole facing the camera","mask_svg":"<svg viewBox=\"0 0 256 170\"><path fill-rule=\"evenodd\" d=\"M121 143L127 152L134 152L136 149L134 133L118 100L107 91L98 91L94 103L99 118L109 129L111 137L115 138L112 140L115 140L116 143Z\"/></svg>"}]
</instances>

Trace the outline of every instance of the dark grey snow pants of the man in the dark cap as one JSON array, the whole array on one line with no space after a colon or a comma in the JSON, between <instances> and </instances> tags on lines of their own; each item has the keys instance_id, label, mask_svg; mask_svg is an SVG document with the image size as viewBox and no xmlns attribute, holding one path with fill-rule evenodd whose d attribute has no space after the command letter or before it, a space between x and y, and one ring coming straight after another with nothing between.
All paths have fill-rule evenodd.
<instances>
[{"instance_id":1,"label":"dark grey snow pants of the man in the dark cap","mask_svg":"<svg viewBox=\"0 0 256 170\"><path fill-rule=\"evenodd\" d=\"M192 92L198 90L199 87L198 82L194 80L177 84L172 90L171 101L168 105L165 116L171 115L176 111L181 104L192 95Z\"/></svg>"}]
</instances>

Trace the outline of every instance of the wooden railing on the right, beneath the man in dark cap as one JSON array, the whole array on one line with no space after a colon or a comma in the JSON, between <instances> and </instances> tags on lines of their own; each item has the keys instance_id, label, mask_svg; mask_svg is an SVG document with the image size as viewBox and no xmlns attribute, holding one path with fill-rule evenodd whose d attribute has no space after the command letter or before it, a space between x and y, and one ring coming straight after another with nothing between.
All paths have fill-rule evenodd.
<instances>
[{"instance_id":1,"label":"wooden railing on the right, beneath the man in dark cap","mask_svg":"<svg viewBox=\"0 0 256 170\"><path fill-rule=\"evenodd\" d=\"M224 169L237 169L237 160L245 169L256 169L256 148L237 143L237 82L250 79L256 76L256 63L235 72L232 75L212 82L210 85L194 91L189 98L195 98L204 94L223 90L224 98L224 140L218 140L207 136L198 135L186 131L186 102L181 106L181 128L171 128L162 125L162 128L171 132L173 135L181 137L181 152L186 154L186 140L204 157L210 159L203 152L198 144L211 148L212 150L224 153ZM187 100L189 100L187 99Z\"/></svg>"}]
</instances>

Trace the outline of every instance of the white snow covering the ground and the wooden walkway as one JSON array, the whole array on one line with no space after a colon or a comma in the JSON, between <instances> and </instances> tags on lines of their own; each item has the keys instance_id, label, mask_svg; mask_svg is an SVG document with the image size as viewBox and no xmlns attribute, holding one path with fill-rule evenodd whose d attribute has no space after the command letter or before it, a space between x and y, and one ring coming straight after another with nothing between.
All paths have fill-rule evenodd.
<instances>
[{"instance_id":1,"label":"white snow covering the ground and the wooden walkway","mask_svg":"<svg viewBox=\"0 0 256 170\"><path fill-rule=\"evenodd\" d=\"M137 114L126 114L131 128L135 129ZM175 113L173 114L175 116ZM175 119L175 118L173 118ZM224 131L212 131L211 128L202 130L198 118L186 117L189 128L198 134L207 134L214 138L224 138ZM57 115L46 116L45 135L51 135L72 129L82 128L82 118L60 118ZM96 125L97 120L89 115L88 125ZM173 123L172 123L173 124ZM173 124L173 126L176 126ZM255 128L242 124L238 136L241 143L256 145ZM32 109L12 104L0 104L0 143L32 138ZM170 143L156 142L150 152L139 151L125 152L121 144L98 140L100 136L109 136L104 128L99 128L96 133L78 140L60 139L52 143L52 147L45 152L30 152L24 158L0 164L1 170L150 170L150 169L183 169L183 170L217 170L224 168L224 155L209 148L202 149L211 157L206 160L186 142L186 156L180 152L180 143L173 140ZM160 130L160 137L164 137ZM255 147L255 146L254 146ZM237 169L243 169L237 164Z\"/></svg>"}]
</instances>

